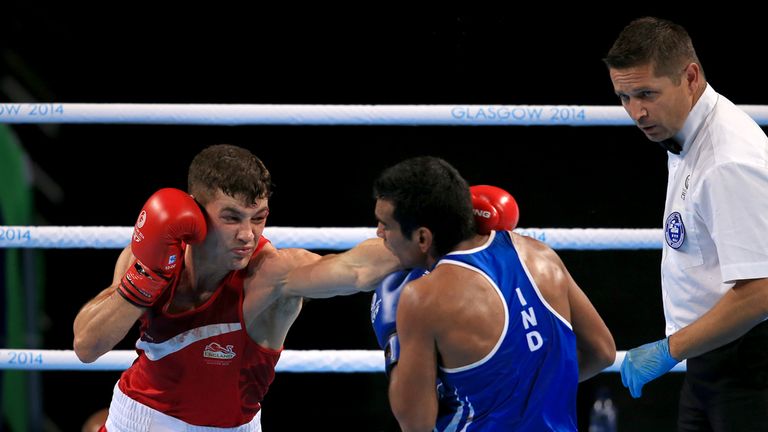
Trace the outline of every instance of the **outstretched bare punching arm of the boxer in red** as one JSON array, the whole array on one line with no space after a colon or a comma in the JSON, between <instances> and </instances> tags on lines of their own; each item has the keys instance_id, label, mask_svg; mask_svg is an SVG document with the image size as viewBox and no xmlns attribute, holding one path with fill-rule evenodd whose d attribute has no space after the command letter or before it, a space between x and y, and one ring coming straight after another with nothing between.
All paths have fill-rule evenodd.
<instances>
[{"instance_id":1,"label":"outstretched bare punching arm of the boxer in red","mask_svg":"<svg viewBox=\"0 0 768 432\"><path fill-rule=\"evenodd\" d=\"M304 258L309 252L293 250L303 261L289 271L282 284L285 295L325 298L372 291L374 283L400 268L400 263L381 239L369 239L354 248L320 259Z\"/></svg>"}]
</instances>

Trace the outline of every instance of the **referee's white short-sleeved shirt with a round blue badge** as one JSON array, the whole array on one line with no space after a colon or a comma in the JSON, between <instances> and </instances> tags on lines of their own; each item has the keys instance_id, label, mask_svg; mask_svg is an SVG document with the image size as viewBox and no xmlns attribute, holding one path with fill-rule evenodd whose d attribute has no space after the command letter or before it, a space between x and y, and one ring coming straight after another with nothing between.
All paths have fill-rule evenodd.
<instances>
[{"instance_id":1,"label":"referee's white short-sleeved shirt with a round blue badge","mask_svg":"<svg viewBox=\"0 0 768 432\"><path fill-rule=\"evenodd\" d=\"M661 289L667 336L735 281L768 277L768 137L710 85L669 153Z\"/></svg>"}]
</instances>

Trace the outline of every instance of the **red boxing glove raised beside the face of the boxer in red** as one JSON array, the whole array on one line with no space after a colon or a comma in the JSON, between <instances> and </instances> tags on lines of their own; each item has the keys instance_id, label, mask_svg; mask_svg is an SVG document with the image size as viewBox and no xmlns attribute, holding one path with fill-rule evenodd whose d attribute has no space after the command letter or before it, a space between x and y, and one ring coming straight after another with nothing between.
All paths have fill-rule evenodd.
<instances>
[{"instance_id":1,"label":"red boxing glove raised beside the face of the boxer in red","mask_svg":"<svg viewBox=\"0 0 768 432\"><path fill-rule=\"evenodd\" d=\"M133 228L136 262L125 272L118 292L136 306L152 306L173 276L183 253L181 243L202 242L206 232L205 216L194 198L172 188L155 192Z\"/></svg>"}]
</instances>

